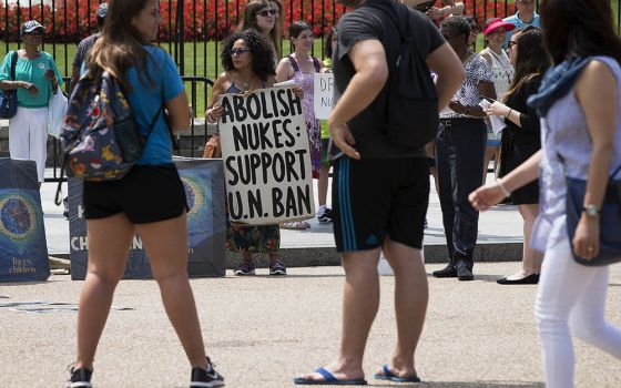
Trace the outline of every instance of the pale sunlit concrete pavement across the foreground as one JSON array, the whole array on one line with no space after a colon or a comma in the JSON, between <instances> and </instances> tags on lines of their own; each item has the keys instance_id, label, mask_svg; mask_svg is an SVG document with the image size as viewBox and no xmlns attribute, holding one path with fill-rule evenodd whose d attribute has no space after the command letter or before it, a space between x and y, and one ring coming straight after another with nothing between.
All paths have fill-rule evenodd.
<instances>
[{"instance_id":1,"label":"pale sunlit concrete pavement across the foreground","mask_svg":"<svg viewBox=\"0 0 621 388\"><path fill-rule=\"evenodd\" d=\"M536 286L499 286L517 263L483 263L475 282L429 277L430 300L417 350L421 387L543 387L533 321ZM441 265L427 265L427 270ZM264 274L261 270L259 274ZM227 387L292 387L292 377L332 360L340 333L339 267L289 268L282 278L193 279L207 354ZM394 278L381 277L381 306L365 358L371 378L395 344ZM75 304L82 282L54 275L0 285L0 387L61 387L74 360ZM607 317L621 325L621 266L611 267ZM41 302L42 304L33 304ZM104 387L186 387L190 368L166 320L156 284L119 285L93 382ZM621 363L577 340L578 387L621 387Z\"/></svg>"}]
</instances>

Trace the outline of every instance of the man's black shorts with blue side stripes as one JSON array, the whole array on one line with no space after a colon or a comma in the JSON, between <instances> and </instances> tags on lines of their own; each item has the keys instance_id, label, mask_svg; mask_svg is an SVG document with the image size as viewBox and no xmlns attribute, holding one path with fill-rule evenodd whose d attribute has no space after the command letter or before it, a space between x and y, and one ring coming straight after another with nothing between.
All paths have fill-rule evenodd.
<instances>
[{"instance_id":1,"label":"man's black shorts with blue side stripes","mask_svg":"<svg viewBox=\"0 0 621 388\"><path fill-rule=\"evenodd\" d=\"M386 236L423 248L429 204L425 157L353 160L334 163L334 237L338 252L375 249Z\"/></svg>"}]
</instances>

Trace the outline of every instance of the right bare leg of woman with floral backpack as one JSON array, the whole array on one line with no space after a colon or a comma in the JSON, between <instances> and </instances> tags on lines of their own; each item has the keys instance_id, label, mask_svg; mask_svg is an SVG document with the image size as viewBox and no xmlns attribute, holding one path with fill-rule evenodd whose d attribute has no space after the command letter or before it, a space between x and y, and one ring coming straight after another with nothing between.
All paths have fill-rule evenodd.
<instances>
[{"instance_id":1,"label":"right bare leg of woman with floral backpack","mask_svg":"<svg viewBox=\"0 0 621 388\"><path fill-rule=\"evenodd\" d=\"M207 367L194 295L187 279L187 223L180 217L135 226L162 302L192 367Z\"/></svg>"}]
</instances>

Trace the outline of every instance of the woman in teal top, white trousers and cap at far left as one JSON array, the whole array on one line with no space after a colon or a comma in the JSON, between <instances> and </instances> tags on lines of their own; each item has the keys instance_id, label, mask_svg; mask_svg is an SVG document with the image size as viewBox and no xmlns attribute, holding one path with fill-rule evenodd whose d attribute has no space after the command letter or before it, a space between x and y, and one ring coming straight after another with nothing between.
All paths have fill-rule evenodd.
<instances>
[{"instance_id":1,"label":"woman in teal top, white trousers and cap at far left","mask_svg":"<svg viewBox=\"0 0 621 388\"><path fill-rule=\"evenodd\" d=\"M10 51L0 65L0 89L18 91L18 110L9 121L9 151L12 159L37 162L37 177L43 182L48 141L48 105L62 83L52 55L40 51L45 28L37 20L23 23L23 49ZM16 78L11 60L17 54Z\"/></svg>"}]
</instances>

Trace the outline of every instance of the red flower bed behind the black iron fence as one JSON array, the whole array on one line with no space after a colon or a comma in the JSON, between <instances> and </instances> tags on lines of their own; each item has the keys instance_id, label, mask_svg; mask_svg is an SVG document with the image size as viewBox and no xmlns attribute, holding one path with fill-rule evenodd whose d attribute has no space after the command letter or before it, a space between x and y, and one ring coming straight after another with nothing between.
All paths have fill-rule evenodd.
<instances>
[{"instance_id":1,"label":"red flower bed behind the black iron fence","mask_svg":"<svg viewBox=\"0 0 621 388\"><path fill-rule=\"evenodd\" d=\"M224 39L235 30L243 18L245 3L246 0L184 0L184 39L186 41ZM0 37L16 41L20 22L37 19L47 27L48 41L78 42L96 28L98 4L98 0L57 0L55 10L50 6L41 7L34 2L31 9L21 7L18 10L16 4L6 9L4 1L1 1ZM162 0L160 7L164 20L160 39L167 41L174 39L174 31L177 28L177 0ZM285 31L291 21L304 20L313 25L317 37L323 35L345 11L344 7L335 3L334 0L283 0L283 7ZM503 0L497 3L492 0L467 0L466 10L468 14L476 14L480 23L495 14L503 18L515 12L512 1L511 4L505 6Z\"/></svg>"}]
</instances>

